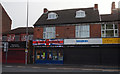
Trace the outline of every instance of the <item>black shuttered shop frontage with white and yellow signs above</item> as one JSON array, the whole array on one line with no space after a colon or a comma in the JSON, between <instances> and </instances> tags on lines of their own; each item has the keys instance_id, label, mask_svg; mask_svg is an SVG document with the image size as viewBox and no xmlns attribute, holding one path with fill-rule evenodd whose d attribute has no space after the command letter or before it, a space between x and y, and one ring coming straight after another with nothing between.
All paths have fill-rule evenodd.
<instances>
[{"instance_id":1,"label":"black shuttered shop frontage with white and yellow signs above","mask_svg":"<svg viewBox=\"0 0 120 74\"><path fill-rule=\"evenodd\" d=\"M120 65L120 38L64 39L64 64Z\"/></svg>"}]
</instances>

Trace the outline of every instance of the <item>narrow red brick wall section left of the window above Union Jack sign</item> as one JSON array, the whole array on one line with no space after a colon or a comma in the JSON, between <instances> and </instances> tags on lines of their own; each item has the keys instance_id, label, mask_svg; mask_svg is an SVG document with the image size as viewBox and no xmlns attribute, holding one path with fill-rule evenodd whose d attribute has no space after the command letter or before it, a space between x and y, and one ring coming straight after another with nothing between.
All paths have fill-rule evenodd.
<instances>
[{"instance_id":1,"label":"narrow red brick wall section left of the window above Union Jack sign","mask_svg":"<svg viewBox=\"0 0 120 74\"><path fill-rule=\"evenodd\" d=\"M34 27L34 39L43 39L43 27Z\"/></svg>"}]
</instances>

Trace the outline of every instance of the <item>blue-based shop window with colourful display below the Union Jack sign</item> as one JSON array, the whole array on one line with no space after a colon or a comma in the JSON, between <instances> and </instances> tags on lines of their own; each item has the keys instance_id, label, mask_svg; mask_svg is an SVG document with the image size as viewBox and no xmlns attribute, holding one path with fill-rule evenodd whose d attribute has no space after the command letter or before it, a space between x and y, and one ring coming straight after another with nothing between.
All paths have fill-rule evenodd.
<instances>
[{"instance_id":1,"label":"blue-based shop window with colourful display below the Union Jack sign","mask_svg":"<svg viewBox=\"0 0 120 74\"><path fill-rule=\"evenodd\" d=\"M36 49L35 52L35 63L63 64L62 49Z\"/></svg>"}]
</instances>

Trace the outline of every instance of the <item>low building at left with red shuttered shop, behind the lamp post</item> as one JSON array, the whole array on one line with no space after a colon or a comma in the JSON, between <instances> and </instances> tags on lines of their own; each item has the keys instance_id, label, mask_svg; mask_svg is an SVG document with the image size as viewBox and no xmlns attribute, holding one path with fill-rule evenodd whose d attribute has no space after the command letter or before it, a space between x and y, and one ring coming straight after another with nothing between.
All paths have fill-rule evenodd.
<instances>
[{"instance_id":1,"label":"low building at left with red shuttered shop, behind the lamp post","mask_svg":"<svg viewBox=\"0 0 120 74\"><path fill-rule=\"evenodd\" d=\"M7 63L25 63L25 49L26 49L26 27L19 27L11 31L3 33L3 46L7 45L7 49L3 48L2 61ZM28 40L33 40L33 28L28 27ZM28 60L32 54L31 48L28 53ZM30 63L30 61L28 61Z\"/></svg>"}]
</instances>

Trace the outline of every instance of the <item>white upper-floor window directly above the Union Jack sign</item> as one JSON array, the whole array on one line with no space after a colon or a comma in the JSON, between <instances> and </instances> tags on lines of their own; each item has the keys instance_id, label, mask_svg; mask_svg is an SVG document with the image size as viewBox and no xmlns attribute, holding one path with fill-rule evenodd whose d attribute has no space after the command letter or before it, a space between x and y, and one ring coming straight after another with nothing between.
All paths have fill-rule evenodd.
<instances>
[{"instance_id":1,"label":"white upper-floor window directly above the Union Jack sign","mask_svg":"<svg viewBox=\"0 0 120 74\"><path fill-rule=\"evenodd\" d=\"M51 31L49 31L50 29L52 29ZM50 37L49 35L52 36ZM56 30L55 27L44 27L43 30L43 39L54 39L56 38Z\"/></svg>"}]
</instances>

